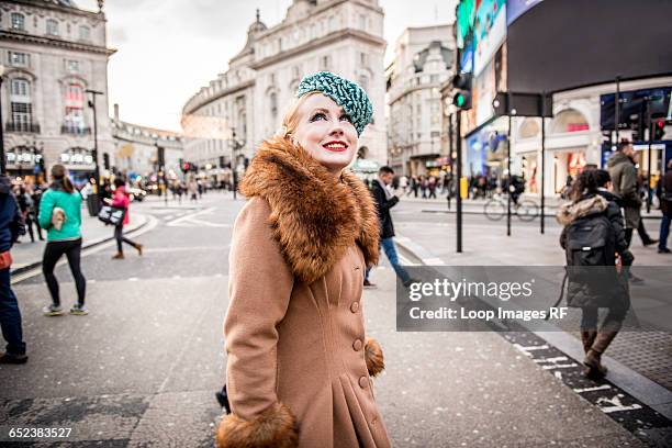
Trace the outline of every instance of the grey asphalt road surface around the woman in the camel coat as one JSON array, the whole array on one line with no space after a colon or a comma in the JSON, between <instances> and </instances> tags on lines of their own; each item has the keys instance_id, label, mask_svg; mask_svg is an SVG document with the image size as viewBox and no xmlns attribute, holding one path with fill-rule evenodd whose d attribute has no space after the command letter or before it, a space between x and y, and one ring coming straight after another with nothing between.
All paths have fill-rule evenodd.
<instances>
[{"instance_id":1,"label":"grey asphalt road surface around the woman in the camel coat","mask_svg":"<svg viewBox=\"0 0 672 448\"><path fill-rule=\"evenodd\" d=\"M23 272L13 289L30 361L0 366L0 445L15 443L11 427L69 427L69 437L34 446L212 447L226 361L227 253L243 203L209 193L198 203L134 206L147 220L131 236L145 245L143 257L111 260L112 243L83 253L88 316L44 317L40 270ZM64 298L74 296L67 266L56 275ZM670 446L665 421L643 428L619 422L614 416L642 408L624 411L637 403L618 389L608 403L593 397L596 385L551 365L559 356L535 346L535 335L512 341L489 332L397 332L387 260L371 280L378 288L363 292L367 334L385 352L374 387L393 446Z\"/></svg>"}]
</instances>

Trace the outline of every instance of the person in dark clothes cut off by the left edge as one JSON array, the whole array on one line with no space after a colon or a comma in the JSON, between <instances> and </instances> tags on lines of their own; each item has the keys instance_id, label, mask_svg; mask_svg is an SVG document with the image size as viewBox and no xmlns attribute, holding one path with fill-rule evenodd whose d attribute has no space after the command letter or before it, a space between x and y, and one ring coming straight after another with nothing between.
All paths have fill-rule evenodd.
<instances>
[{"instance_id":1,"label":"person in dark clothes cut off by the left edge","mask_svg":"<svg viewBox=\"0 0 672 448\"><path fill-rule=\"evenodd\" d=\"M16 200L7 176L0 176L0 254L8 253L23 235L25 228ZM0 355L0 363L24 363L25 343L21 326L21 312L10 283L10 267L0 269L0 326L7 340L7 351Z\"/></svg>"}]
</instances>

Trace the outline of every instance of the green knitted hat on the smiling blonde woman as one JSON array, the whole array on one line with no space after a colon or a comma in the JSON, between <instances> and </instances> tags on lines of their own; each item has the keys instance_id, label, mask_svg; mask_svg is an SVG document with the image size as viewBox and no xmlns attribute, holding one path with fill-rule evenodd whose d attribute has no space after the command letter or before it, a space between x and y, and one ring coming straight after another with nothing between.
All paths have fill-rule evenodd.
<instances>
[{"instance_id":1,"label":"green knitted hat on the smiling blonde woman","mask_svg":"<svg viewBox=\"0 0 672 448\"><path fill-rule=\"evenodd\" d=\"M357 135L361 135L365 126L373 121L373 107L369 96L357 83L331 71L320 71L307 75L301 80L296 90L296 98L315 91L336 101L336 104L340 105L350 115Z\"/></svg>"}]
</instances>

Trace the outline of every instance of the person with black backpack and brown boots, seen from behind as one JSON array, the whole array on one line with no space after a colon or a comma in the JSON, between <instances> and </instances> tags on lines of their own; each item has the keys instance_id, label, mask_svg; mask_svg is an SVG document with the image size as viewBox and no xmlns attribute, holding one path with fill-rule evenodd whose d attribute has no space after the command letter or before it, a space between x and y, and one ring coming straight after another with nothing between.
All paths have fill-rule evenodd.
<instances>
[{"instance_id":1,"label":"person with black backpack and brown boots, seen from behind","mask_svg":"<svg viewBox=\"0 0 672 448\"><path fill-rule=\"evenodd\" d=\"M568 306L582 310L583 363L591 379L606 374L602 355L618 334L630 307L627 273L620 272L617 265L627 267L635 259L628 250L617 197L606 191L605 179L608 179L605 172L595 169L578 175L571 202L561 205L557 214L564 226L560 245L565 251L569 275ZM601 307L608 309L608 314L597 329Z\"/></svg>"}]
</instances>

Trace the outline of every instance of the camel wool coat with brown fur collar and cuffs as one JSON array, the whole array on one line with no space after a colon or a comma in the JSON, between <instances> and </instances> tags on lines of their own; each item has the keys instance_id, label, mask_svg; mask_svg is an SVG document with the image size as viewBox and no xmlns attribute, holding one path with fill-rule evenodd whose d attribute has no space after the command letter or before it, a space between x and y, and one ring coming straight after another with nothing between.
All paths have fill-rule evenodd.
<instances>
[{"instance_id":1,"label":"camel wool coat with brown fur collar and cuffs","mask_svg":"<svg viewBox=\"0 0 672 448\"><path fill-rule=\"evenodd\" d=\"M369 191L285 138L261 144L240 191L224 323L232 414L217 445L389 447L370 380L382 351L361 305L378 261Z\"/></svg>"}]
</instances>

